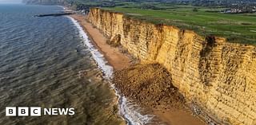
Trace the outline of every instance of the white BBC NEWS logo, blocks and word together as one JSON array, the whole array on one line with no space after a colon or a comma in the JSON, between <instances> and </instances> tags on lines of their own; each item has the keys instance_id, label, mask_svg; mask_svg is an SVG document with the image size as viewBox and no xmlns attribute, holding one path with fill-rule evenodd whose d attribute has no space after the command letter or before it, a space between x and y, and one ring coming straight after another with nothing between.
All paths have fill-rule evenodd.
<instances>
[{"instance_id":1,"label":"white BBC NEWS logo, blocks and word together","mask_svg":"<svg viewBox=\"0 0 256 125\"><path fill-rule=\"evenodd\" d=\"M6 116L74 115L74 108L6 107Z\"/></svg>"}]
</instances>

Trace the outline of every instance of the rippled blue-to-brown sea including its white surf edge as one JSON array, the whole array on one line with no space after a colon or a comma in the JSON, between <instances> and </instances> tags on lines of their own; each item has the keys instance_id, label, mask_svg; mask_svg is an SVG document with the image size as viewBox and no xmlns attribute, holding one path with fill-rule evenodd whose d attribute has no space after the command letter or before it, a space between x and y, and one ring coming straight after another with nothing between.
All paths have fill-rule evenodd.
<instances>
[{"instance_id":1,"label":"rippled blue-to-brown sea including its white surf edge","mask_svg":"<svg viewBox=\"0 0 256 125\"><path fill-rule=\"evenodd\" d=\"M1 125L142 125L113 68L73 18L35 17L62 6L0 4ZM74 108L74 115L6 116L6 107Z\"/></svg>"}]
</instances>

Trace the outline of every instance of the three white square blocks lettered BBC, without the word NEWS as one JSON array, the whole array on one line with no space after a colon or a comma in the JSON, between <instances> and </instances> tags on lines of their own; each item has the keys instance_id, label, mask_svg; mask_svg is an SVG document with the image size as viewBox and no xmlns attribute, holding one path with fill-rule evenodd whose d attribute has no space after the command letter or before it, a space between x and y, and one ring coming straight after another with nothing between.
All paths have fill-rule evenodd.
<instances>
[{"instance_id":1,"label":"three white square blocks lettered BBC, without the word NEWS","mask_svg":"<svg viewBox=\"0 0 256 125\"><path fill-rule=\"evenodd\" d=\"M30 114L29 114L30 113ZM6 107L6 116L41 116L41 107Z\"/></svg>"}]
</instances>

